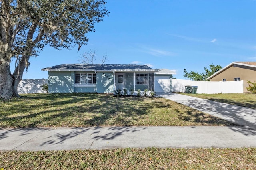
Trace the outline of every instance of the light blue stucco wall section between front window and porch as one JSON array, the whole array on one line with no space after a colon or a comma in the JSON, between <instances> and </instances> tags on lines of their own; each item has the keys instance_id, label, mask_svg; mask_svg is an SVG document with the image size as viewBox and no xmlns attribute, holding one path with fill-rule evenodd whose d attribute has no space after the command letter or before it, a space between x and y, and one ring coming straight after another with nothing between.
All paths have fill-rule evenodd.
<instances>
[{"instance_id":1,"label":"light blue stucco wall section between front window and porch","mask_svg":"<svg viewBox=\"0 0 256 170\"><path fill-rule=\"evenodd\" d=\"M97 79L98 93L113 93L114 91L113 72L98 72L96 79Z\"/></svg>"}]
</instances>

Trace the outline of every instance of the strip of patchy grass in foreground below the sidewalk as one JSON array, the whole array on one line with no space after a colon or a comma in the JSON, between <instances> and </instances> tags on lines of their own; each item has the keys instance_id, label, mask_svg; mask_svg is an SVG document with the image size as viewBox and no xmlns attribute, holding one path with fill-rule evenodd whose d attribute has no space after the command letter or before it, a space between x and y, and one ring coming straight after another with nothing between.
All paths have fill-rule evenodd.
<instances>
[{"instance_id":1,"label":"strip of patchy grass in foreground below the sidewalk","mask_svg":"<svg viewBox=\"0 0 256 170\"><path fill-rule=\"evenodd\" d=\"M256 169L256 148L0 151L0 169Z\"/></svg>"}]
</instances>

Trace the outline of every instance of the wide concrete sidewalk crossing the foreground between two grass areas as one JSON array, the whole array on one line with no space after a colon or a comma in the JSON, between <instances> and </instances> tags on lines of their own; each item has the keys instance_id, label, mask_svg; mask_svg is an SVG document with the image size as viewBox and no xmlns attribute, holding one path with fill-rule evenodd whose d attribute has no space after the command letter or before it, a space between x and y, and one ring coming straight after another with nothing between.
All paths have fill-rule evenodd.
<instances>
[{"instance_id":1,"label":"wide concrete sidewalk crossing the foreground between two grass areas","mask_svg":"<svg viewBox=\"0 0 256 170\"><path fill-rule=\"evenodd\" d=\"M256 147L256 130L239 126L2 128L0 150Z\"/></svg>"}]
</instances>

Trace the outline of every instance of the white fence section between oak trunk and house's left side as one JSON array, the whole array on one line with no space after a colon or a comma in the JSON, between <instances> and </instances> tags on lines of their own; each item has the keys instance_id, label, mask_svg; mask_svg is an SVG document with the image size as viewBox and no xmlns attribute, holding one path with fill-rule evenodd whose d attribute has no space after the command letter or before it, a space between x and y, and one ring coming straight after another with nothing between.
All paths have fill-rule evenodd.
<instances>
[{"instance_id":1,"label":"white fence section between oak trunk and house's left side","mask_svg":"<svg viewBox=\"0 0 256 170\"><path fill-rule=\"evenodd\" d=\"M23 79L18 85L18 93L46 93L42 90L43 84L48 84L48 79Z\"/></svg>"}]
</instances>

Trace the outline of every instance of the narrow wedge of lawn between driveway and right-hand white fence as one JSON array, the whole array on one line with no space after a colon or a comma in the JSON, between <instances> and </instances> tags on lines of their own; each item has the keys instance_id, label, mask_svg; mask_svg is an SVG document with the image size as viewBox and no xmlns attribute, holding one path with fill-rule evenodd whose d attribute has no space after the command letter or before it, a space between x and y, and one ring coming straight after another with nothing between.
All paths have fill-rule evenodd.
<instances>
[{"instance_id":1,"label":"narrow wedge of lawn between driveway and right-hand white fence","mask_svg":"<svg viewBox=\"0 0 256 170\"><path fill-rule=\"evenodd\" d=\"M228 93L228 94L180 93L180 94L256 109L256 94L251 94L251 93Z\"/></svg>"}]
</instances>

